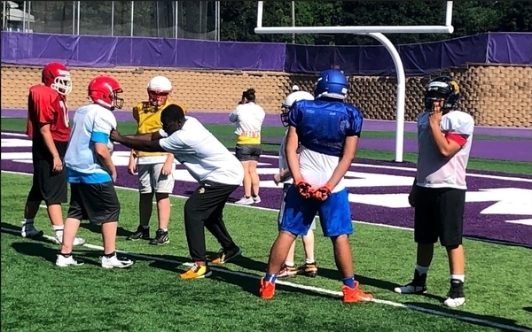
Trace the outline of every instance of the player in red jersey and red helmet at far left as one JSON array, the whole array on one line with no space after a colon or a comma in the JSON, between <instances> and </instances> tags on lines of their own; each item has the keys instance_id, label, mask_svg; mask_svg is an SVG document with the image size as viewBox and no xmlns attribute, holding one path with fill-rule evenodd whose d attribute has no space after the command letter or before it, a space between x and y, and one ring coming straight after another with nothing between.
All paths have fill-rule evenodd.
<instances>
[{"instance_id":1,"label":"player in red jersey and red helmet at far left","mask_svg":"<svg viewBox=\"0 0 532 332\"><path fill-rule=\"evenodd\" d=\"M27 96L26 134L32 139L34 174L20 233L23 237L43 235L43 231L35 229L34 220L44 201L55 241L62 243L61 204L66 203L67 195L63 158L70 135L66 96L72 91L72 81L68 68L54 62L44 66L42 82L31 87ZM74 239L76 245L83 243L81 238Z\"/></svg>"}]
</instances>

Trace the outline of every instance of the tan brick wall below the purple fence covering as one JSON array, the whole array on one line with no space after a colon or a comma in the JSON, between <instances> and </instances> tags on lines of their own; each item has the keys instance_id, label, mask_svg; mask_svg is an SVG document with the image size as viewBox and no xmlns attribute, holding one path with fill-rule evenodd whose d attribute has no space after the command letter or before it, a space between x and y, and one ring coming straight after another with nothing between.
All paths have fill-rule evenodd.
<instances>
[{"instance_id":1,"label":"tan brick wall below the purple fence covering","mask_svg":"<svg viewBox=\"0 0 532 332\"><path fill-rule=\"evenodd\" d=\"M2 66L2 108L26 108L27 89L40 81L40 71L37 67ZM74 81L74 91L68 97L71 109L85 103L87 84L99 74L121 81L126 110L146 97L146 83L154 75L168 76L175 86L174 99L201 112L229 112L244 89L254 88L257 103L266 112L277 113L293 84L312 91L316 80L315 76L288 73L137 68L71 68L71 73ZM423 107L426 83L439 74L442 73L407 78L405 120L416 119ZM532 67L469 66L445 74L460 82L464 93L460 108L471 113L477 125L532 127ZM351 76L349 81L348 101L360 107L367 119L395 119L395 78Z\"/></svg>"}]
</instances>

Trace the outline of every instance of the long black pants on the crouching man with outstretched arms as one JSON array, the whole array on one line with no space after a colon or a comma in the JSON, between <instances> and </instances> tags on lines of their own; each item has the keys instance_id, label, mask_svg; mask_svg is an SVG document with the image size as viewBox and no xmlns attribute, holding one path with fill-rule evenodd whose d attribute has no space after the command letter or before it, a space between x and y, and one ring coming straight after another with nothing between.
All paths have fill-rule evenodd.
<instances>
[{"instance_id":1,"label":"long black pants on the crouching man with outstretched arms","mask_svg":"<svg viewBox=\"0 0 532 332\"><path fill-rule=\"evenodd\" d=\"M193 261L205 261L205 230L215 236L224 250L236 247L223 223L223 207L238 185L202 182L184 204L184 230Z\"/></svg>"}]
</instances>

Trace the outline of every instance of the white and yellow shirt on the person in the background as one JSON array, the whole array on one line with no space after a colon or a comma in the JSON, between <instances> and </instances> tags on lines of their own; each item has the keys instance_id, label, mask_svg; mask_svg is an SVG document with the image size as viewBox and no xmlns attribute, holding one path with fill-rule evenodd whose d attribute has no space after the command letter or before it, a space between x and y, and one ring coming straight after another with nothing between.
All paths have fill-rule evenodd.
<instances>
[{"instance_id":1,"label":"white and yellow shirt on the person in the background","mask_svg":"<svg viewBox=\"0 0 532 332\"><path fill-rule=\"evenodd\" d=\"M258 104L253 102L239 104L229 114L229 120L235 122L235 135L237 143L260 144L261 128L266 112Z\"/></svg>"}]
</instances>

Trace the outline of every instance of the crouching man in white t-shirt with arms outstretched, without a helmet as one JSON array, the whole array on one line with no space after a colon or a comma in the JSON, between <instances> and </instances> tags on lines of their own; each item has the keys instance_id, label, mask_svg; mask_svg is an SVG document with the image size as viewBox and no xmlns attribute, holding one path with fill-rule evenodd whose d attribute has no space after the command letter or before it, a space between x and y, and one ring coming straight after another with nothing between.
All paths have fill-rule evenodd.
<instances>
[{"instance_id":1,"label":"crouching man in white t-shirt with arms outstretched, without a helmet","mask_svg":"<svg viewBox=\"0 0 532 332\"><path fill-rule=\"evenodd\" d=\"M207 265L204 227L222 246L212 263L223 264L242 252L225 228L223 207L244 179L244 169L200 121L185 117L178 105L168 105L160 113L160 121L159 132L121 136L113 130L111 139L137 151L172 153L200 182L184 205L184 229L194 266L181 278L204 278L212 274Z\"/></svg>"}]
</instances>

